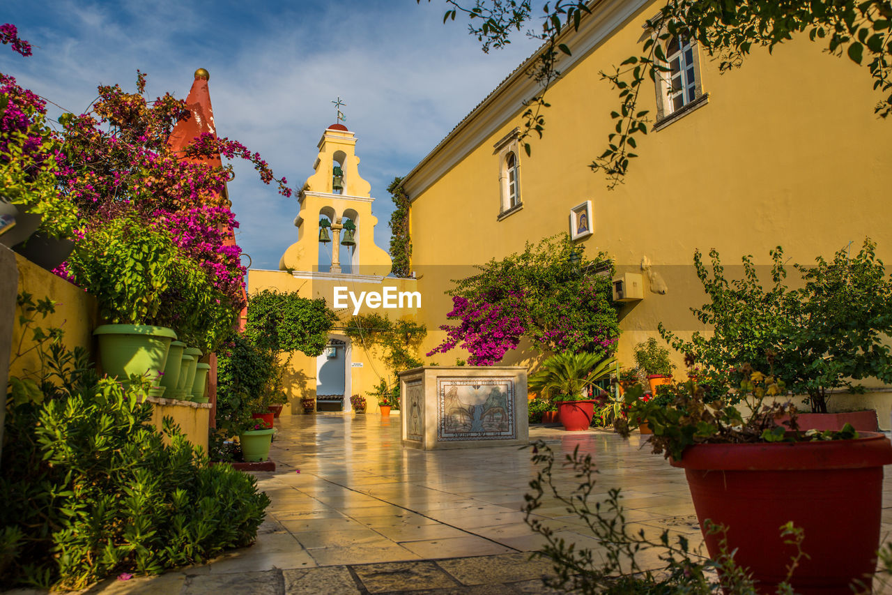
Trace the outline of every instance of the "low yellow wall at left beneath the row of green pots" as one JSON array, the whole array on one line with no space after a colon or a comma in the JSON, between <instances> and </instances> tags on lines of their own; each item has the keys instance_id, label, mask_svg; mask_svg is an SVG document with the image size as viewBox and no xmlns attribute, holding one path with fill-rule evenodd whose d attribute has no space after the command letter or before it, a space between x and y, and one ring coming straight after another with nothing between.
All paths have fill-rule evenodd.
<instances>
[{"instance_id":1,"label":"low yellow wall at left beneath the row of green pots","mask_svg":"<svg viewBox=\"0 0 892 595\"><path fill-rule=\"evenodd\" d=\"M19 293L30 293L37 299L49 297L56 302L55 313L42 319L37 314L37 326L43 328L58 327L65 332L63 342L66 348L86 348L95 360L96 342L93 330L99 325L99 314L96 300L83 289L57 277L52 272L37 266L28 259L16 255L19 268ZM35 377L40 369L37 350L31 349L30 331L23 334L21 325L16 324L12 331L12 356L10 375ZM16 356L19 353L21 356ZM160 405L159 403L165 403ZM161 430L161 418L168 415L178 423L189 441L208 449L208 423L210 406L194 407L193 403L158 399L153 404L153 424Z\"/></svg>"}]
</instances>

